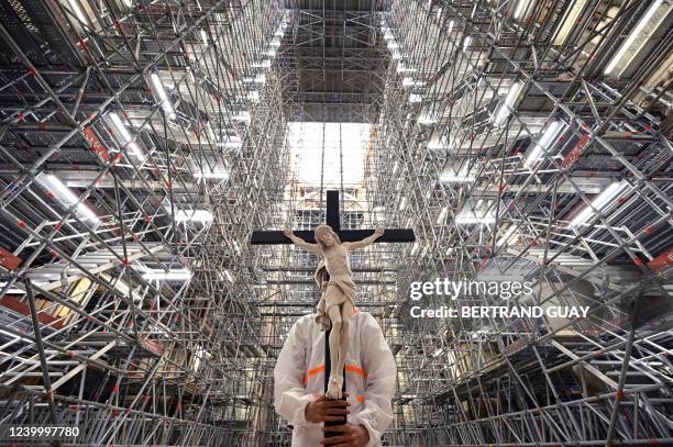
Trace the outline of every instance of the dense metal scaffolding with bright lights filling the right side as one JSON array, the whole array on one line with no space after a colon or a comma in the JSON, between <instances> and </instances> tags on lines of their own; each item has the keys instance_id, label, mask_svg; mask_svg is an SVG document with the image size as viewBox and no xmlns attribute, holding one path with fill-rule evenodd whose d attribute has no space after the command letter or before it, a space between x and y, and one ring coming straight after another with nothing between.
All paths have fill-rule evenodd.
<instances>
[{"instance_id":1,"label":"dense metal scaffolding with bright lights filling the right side","mask_svg":"<svg viewBox=\"0 0 673 447\"><path fill-rule=\"evenodd\" d=\"M397 204L389 217L420 235L393 311L405 334L398 444L671 442L672 153L661 64L672 18L662 4L387 5L380 24L394 64L379 164L396 176L375 185ZM629 33L648 16L658 38L628 54ZM409 281L435 277L528 280L532 297L505 305L591 312L409 317L418 304ZM486 293L429 301L504 304Z\"/></svg>"}]
</instances>

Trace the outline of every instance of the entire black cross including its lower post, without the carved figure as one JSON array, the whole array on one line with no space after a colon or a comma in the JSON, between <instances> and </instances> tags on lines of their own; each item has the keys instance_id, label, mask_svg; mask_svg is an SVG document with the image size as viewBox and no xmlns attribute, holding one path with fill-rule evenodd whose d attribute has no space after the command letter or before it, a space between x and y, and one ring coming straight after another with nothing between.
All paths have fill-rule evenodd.
<instances>
[{"instance_id":1,"label":"entire black cross including its lower post, without the carved figure","mask_svg":"<svg viewBox=\"0 0 673 447\"><path fill-rule=\"evenodd\" d=\"M374 234L374 230L341 230L341 221L339 219L339 191L329 190L327 191L327 219L326 223L332 227L334 233L339 235L341 242L356 242L362 241L365 237L368 237ZM295 232L297 237L302 238L308 243L316 243L315 233L312 230L302 230ZM413 234L413 230L411 228L393 228L386 230L383 236L380 236L376 242L413 242L416 241L416 235ZM277 245L277 244L291 244L293 242L283 234L280 231L258 231L253 232L250 238L250 243L252 245ZM324 333L324 391L327 392L328 382L330 378L331 371L331 361L330 361L330 331ZM345 368L344 368L344 380L343 380L343 391L345 391ZM332 425L344 425L346 423L346 417L344 416L342 421L334 422L326 422L326 426ZM327 432L324 437L336 436L338 433Z\"/></svg>"}]
</instances>

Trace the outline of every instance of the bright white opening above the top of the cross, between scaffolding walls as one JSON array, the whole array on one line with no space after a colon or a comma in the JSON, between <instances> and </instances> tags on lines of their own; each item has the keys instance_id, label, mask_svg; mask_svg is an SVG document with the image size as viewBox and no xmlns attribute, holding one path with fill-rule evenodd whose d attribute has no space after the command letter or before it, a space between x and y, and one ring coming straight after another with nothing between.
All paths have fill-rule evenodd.
<instances>
[{"instance_id":1,"label":"bright white opening above the top of the cross, between scaffolding walls","mask_svg":"<svg viewBox=\"0 0 673 447\"><path fill-rule=\"evenodd\" d=\"M364 179L369 124L289 123L293 174L304 183L352 186ZM324 154L324 156L323 156Z\"/></svg>"}]
</instances>

